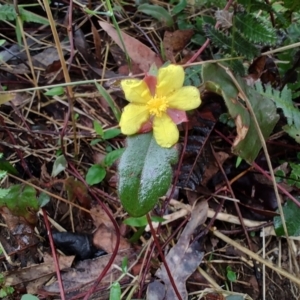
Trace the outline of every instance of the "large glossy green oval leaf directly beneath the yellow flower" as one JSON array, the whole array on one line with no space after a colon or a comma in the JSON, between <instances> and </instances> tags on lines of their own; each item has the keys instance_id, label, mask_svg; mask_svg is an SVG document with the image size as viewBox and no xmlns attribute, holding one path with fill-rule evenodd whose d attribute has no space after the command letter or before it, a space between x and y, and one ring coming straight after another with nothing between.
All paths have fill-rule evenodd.
<instances>
[{"instance_id":1,"label":"large glossy green oval leaf directly beneath the yellow flower","mask_svg":"<svg viewBox=\"0 0 300 300\"><path fill-rule=\"evenodd\" d=\"M119 163L118 191L124 209L133 217L147 214L166 194L172 179L175 148L160 147L152 133L127 138Z\"/></svg>"}]
</instances>

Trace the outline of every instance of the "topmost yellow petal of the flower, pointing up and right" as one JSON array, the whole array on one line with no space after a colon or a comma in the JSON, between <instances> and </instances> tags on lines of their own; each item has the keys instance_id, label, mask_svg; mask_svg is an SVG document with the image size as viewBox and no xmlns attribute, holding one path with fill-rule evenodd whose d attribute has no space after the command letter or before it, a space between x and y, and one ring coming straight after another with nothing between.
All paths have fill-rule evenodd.
<instances>
[{"instance_id":1,"label":"topmost yellow petal of the flower, pointing up and right","mask_svg":"<svg viewBox=\"0 0 300 300\"><path fill-rule=\"evenodd\" d=\"M169 65L160 68L157 75L156 94L159 97L168 96L168 94L180 89L184 82L184 70L182 66Z\"/></svg>"}]
</instances>

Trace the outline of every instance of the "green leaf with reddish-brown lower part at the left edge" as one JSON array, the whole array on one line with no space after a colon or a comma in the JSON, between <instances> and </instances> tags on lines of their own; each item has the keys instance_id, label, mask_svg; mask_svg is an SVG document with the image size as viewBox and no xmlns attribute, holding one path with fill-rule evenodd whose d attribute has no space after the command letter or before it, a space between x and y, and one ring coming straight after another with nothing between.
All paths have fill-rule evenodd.
<instances>
[{"instance_id":1,"label":"green leaf with reddish-brown lower part at the left edge","mask_svg":"<svg viewBox=\"0 0 300 300\"><path fill-rule=\"evenodd\" d=\"M21 184L11 186L9 192L0 198L0 207L4 206L13 215L23 217L28 223L36 223L36 212L39 210L39 205L33 187Z\"/></svg>"}]
</instances>

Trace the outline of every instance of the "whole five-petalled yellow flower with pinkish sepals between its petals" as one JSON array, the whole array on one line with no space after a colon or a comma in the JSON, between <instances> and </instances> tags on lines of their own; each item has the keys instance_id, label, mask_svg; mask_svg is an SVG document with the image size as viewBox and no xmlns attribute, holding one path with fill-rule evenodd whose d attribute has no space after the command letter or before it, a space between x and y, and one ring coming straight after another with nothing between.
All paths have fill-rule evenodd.
<instances>
[{"instance_id":1,"label":"whole five-petalled yellow flower with pinkish sepals between its petals","mask_svg":"<svg viewBox=\"0 0 300 300\"><path fill-rule=\"evenodd\" d=\"M157 78L146 75L143 80L122 80L121 87L130 102L121 116L122 133L135 134L150 122L158 145L169 148L178 142L176 124L187 120L181 111L197 108L201 103L199 90L194 86L183 86L183 82L184 69L177 65L160 68Z\"/></svg>"}]
</instances>

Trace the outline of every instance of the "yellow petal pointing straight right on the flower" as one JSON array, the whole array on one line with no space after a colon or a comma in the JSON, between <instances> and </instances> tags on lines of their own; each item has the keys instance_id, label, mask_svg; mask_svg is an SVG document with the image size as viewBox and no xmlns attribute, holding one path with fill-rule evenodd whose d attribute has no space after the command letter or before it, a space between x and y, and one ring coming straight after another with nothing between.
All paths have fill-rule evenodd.
<instances>
[{"instance_id":1,"label":"yellow petal pointing straight right on the flower","mask_svg":"<svg viewBox=\"0 0 300 300\"><path fill-rule=\"evenodd\" d=\"M197 108L200 103L200 92L194 86L184 86L169 95L166 99L170 108L190 110Z\"/></svg>"}]
</instances>

